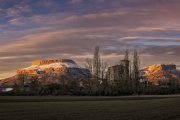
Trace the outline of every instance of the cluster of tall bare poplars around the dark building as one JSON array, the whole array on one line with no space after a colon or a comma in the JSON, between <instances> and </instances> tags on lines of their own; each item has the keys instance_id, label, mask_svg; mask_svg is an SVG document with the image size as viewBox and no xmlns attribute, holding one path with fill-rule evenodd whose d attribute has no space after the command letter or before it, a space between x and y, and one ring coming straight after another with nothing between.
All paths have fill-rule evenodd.
<instances>
[{"instance_id":1,"label":"cluster of tall bare poplars around the dark building","mask_svg":"<svg viewBox=\"0 0 180 120\"><path fill-rule=\"evenodd\" d=\"M100 57L99 47L96 46L92 59L86 60L85 67L91 71L89 81L89 93L91 95L132 95L139 94L141 83L139 82L140 60L137 51L134 51L133 61L129 59L129 51L124 56L124 66L117 66L117 72L109 72L108 64ZM110 80L108 76L117 76Z\"/></svg>"}]
</instances>

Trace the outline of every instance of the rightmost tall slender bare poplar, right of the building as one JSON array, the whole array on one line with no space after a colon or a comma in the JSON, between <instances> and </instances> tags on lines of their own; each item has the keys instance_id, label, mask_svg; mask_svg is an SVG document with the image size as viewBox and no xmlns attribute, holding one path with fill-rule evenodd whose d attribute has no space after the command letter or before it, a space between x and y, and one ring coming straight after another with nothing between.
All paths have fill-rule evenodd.
<instances>
[{"instance_id":1,"label":"rightmost tall slender bare poplar, right of the building","mask_svg":"<svg viewBox=\"0 0 180 120\"><path fill-rule=\"evenodd\" d=\"M132 72L132 78L135 82L135 92L138 92L139 89L139 56L136 50L134 50L134 57L133 57L133 72Z\"/></svg>"}]
</instances>

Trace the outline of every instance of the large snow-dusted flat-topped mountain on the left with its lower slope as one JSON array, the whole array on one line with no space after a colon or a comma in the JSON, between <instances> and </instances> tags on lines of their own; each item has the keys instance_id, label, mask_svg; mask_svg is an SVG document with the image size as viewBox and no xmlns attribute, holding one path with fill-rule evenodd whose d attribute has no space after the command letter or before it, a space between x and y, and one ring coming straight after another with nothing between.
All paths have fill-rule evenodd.
<instances>
[{"instance_id":1,"label":"large snow-dusted flat-topped mountain on the left with its lower slope","mask_svg":"<svg viewBox=\"0 0 180 120\"><path fill-rule=\"evenodd\" d=\"M28 82L36 77L45 84L63 80L87 80L90 72L70 59L41 60L32 62L29 67L18 69L15 76L1 80L0 84L13 85L20 75L25 76Z\"/></svg>"}]
</instances>

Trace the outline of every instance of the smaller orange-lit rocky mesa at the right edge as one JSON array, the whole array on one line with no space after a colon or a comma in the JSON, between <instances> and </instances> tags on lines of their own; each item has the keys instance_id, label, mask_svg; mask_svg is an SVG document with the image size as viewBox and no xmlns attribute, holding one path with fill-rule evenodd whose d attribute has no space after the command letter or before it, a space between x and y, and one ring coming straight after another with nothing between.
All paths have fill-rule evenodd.
<instances>
[{"instance_id":1,"label":"smaller orange-lit rocky mesa at the right edge","mask_svg":"<svg viewBox=\"0 0 180 120\"><path fill-rule=\"evenodd\" d=\"M172 80L178 80L180 78L180 71L176 69L174 64L159 64L142 69L140 76L143 79L147 79L149 83L159 85L169 83Z\"/></svg>"}]
</instances>

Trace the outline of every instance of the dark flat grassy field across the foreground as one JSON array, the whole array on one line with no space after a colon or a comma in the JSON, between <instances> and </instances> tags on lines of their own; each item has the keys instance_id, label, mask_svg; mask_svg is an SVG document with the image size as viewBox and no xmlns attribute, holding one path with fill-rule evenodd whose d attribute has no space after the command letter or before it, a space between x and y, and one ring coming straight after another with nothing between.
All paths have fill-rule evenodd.
<instances>
[{"instance_id":1,"label":"dark flat grassy field across the foreground","mask_svg":"<svg viewBox=\"0 0 180 120\"><path fill-rule=\"evenodd\" d=\"M180 120L180 97L0 96L0 120Z\"/></svg>"}]
</instances>

